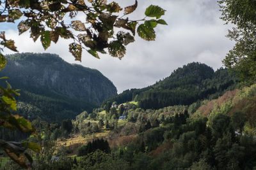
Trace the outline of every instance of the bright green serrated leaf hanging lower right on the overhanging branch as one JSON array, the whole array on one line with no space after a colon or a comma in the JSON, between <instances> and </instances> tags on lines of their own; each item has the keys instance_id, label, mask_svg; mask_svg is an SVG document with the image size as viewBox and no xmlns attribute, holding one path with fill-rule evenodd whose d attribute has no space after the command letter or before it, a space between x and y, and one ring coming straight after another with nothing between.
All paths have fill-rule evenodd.
<instances>
[{"instance_id":1,"label":"bright green serrated leaf hanging lower right on the overhanging branch","mask_svg":"<svg viewBox=\"0 0 256 170\"><path fill-rule=\"evenodd\" d=\"M150 25L141 24L138 27L137 32L141 38L147 41L154 41L156 39L155 31Z\"/></svg>"}]
</instances>

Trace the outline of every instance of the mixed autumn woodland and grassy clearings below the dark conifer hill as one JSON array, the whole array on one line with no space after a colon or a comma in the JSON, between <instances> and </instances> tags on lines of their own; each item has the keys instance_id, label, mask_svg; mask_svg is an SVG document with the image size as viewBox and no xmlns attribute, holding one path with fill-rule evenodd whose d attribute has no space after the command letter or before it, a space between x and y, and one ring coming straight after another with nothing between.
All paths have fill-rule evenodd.
<instances>
[{"instance_id":1,"label":"mixed autumn woodland and grassy clearings below the dark conifer hill","mask_svg":"<svg viewBox=\"0 0 256 170\"><path fill-rule=\"evenodd\" d=\"M42 156L33 153L33 168L255 169L255 94L252 85L158 110L129 102L109 111L83 111L61 124L34 120L44 137L28 141L47 148ZM1 169L20 169L6 161Z\"/></svg>"}]
</instances>

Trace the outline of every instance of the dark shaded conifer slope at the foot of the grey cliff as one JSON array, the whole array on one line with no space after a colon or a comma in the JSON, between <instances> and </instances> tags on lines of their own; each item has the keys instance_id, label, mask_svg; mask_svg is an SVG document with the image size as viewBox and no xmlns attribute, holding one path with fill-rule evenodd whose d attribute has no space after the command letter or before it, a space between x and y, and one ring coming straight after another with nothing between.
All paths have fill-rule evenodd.
<instances>
[{"instance_id":1,"label":"dark shaded conifer slope at the foot of the grey cliff","mask_svg":"<svg viewBox=\"0 0 256 170\"><path fill-rule=\"evenodd\" d=\"M96 105L83 101L70 99L63 96L49 97L34 94L28 91L20 91L17 97L17 111L15 114L22 115L29 120L37 117L48 122L61 122L67 118L75 118L83 110L92 111Z\"/></svg>"}]
</instances>

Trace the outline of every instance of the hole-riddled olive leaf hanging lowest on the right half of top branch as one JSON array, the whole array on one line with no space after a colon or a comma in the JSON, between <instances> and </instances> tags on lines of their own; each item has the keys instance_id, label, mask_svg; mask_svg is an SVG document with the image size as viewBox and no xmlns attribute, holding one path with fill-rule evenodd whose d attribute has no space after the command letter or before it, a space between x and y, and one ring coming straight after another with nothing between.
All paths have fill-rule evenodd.
<instances>
[{"instance_id":1,"label":"hole-riddled olive leaf hanging lowest on the right half of top branch","mask_svg":"<svg viewBox=\"0 0 256 170\"><path fill-rule=\"evenodd\" d=\"M125 46L120 43L120 41L111 41L108 45L109 54L113 57L118 57L122 59L125 55Z\"/></svg>"}]
</instances>

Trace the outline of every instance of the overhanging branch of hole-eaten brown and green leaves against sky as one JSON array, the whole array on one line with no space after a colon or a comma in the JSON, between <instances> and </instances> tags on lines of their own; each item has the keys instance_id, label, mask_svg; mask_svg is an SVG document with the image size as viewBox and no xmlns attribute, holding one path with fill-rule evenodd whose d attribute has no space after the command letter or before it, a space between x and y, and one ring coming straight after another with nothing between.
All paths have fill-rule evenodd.
<instances>
[{"instance_id":1,"label":"overhanging branch of hole-eaten brown and green leaves against sky","mask_svg":"<svg viewBox=\"0 0 256 170\"><path fill-rule=\"evenodd\" d=\"M18 25L19 34L30 30L30 37L34 41L40 38L45 50L51 46L51 41L57 43L59 38L74 39L69 51L79 61L83 49L98 59L98 52L106 53L105 49L113 57L122 59L126 46L134 42L136 28L141 38L152 41L156 39L156 25L167 25L159 19L164 15L164 10L154 5L147 8L145 18L156 19L129 20L127 15L136 10L137 0L124 9L114 1L108 3L102 0L6 0L4 4L5 7L0 8L0 22L14 22L22 18ZM85 15L86 19L75 20L77 15ZM145 22L140 24L142 21ZM1 45L17 51L12 40L3 41Z\"/></svg>"}]
</instances>

